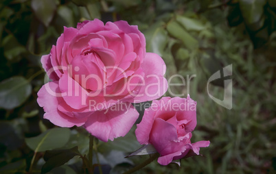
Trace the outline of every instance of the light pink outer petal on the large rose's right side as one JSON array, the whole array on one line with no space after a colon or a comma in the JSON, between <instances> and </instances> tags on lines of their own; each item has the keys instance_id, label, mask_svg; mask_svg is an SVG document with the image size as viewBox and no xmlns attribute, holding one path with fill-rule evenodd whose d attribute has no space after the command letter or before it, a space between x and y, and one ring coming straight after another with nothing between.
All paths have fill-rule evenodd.
<instances>
[{"instance_id":1,"label":"light pink outer petal on the large rose's right side","mask_svg":"<svg viewBox=\"0 0 276 174\"><path fill-rule=\"evenodd\" d=\"M145 73L145 85L134 98L137 103L158 99L168 89L168 82L163 75L165 74L165 63L156 53L146 53L146 57L141 64Z\"/></svg>"}]
</instances>

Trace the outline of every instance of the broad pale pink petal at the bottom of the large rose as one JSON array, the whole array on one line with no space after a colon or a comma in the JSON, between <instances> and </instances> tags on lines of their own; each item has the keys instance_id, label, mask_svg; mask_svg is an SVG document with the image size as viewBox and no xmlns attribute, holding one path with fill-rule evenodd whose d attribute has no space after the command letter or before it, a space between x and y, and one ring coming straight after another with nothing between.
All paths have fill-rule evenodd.
<instances>
[{"instance_id":1,"label":"broad pale pink petal at the bottom of the large rose","mask_svg":"<svg viewBox=\"0 0 276 174\"><path fill-rule=\"evenodd\" d=\"M84 124L85 129L98 139L107 142L125 136L137 120L139 113L131 103L113 105L107 110L94 112Z\"/></svg>"}]
</instances>

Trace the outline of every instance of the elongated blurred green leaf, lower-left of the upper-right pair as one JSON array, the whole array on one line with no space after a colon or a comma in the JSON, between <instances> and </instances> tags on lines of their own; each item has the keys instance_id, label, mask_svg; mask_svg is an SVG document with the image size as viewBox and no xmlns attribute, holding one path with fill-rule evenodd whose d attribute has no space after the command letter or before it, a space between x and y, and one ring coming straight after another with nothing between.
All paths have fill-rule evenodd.
<instances>
[{"instance_id":1,"label":"elongated blurred green leaf, lower-left of the upper-right pair","mask_svg":"<svg viewBox=\"0 0 276 174\"><path fill-rule=\"evenodd\" d=\"M170 35L174 38L179 38L188 49L195 49L198 47L198 41L176 21L168 23L167 29Z\"/></svg>"}]
</instances>

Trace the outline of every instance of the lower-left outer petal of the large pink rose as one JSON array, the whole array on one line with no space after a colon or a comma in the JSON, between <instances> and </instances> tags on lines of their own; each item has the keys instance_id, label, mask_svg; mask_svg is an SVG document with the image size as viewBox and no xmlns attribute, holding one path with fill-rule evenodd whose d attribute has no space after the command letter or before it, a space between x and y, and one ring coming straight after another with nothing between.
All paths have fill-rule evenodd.
<instances>
[{"instance_id":1,"label":"lower-left outer petal of the large pink rose","mask_svg":"<svg viewBox=\"0 0 276 174\"><path fill-rule=\"evenodd\" d=\"M58 95L59 94L59 95ZM58 82L49 82L42 86L38 91L38 105L43 107L45 114L44 119L48 119L54 125L60 127L81 126L87 121L87 118L78 119L67 116L58 110L58 104L63 101L60 96L61 91L58 88Z\"/></svg>"}]
</instances>

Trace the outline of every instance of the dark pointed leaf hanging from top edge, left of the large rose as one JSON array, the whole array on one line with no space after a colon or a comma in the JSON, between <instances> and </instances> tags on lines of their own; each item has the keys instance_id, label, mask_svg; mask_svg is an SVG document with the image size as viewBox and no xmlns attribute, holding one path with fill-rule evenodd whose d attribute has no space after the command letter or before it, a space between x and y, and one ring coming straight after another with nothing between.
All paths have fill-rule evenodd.
<instances>
[{"instance_id":1,"label":"dark pointed leaf hanging from top edge, left of the large rose","mask_svg":"<svg viewBox=\"0 0 276 174\"><path fill-rule=\"evenodd\" d=\"M46 27L54 17L56 12L56 1L55 0L32 0L32 10L34 14Z\"/></svg>"}]
</instances>

